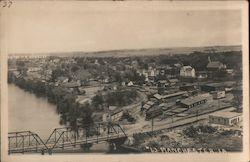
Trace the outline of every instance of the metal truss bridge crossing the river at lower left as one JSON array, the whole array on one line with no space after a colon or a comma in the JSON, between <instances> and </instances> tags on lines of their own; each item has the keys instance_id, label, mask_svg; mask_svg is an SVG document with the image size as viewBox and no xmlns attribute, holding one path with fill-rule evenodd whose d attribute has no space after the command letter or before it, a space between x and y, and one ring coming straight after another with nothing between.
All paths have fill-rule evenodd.
<instances>
[{"instance_id":1,"label":"metal truss bridge crossing the river at lower left","mask_svg":"<svg viewBox=\"0 0 250 162\"><path fill-rule=\"evenodd\" d=\"M116 123L95 123L92 127L77 130L71 127L55 128L45 142L36 133L30 131L10 132L9 154L32 151L52 153L53 149L99 143L126 136L121 126Z\"/></svg>"}]
</instances>

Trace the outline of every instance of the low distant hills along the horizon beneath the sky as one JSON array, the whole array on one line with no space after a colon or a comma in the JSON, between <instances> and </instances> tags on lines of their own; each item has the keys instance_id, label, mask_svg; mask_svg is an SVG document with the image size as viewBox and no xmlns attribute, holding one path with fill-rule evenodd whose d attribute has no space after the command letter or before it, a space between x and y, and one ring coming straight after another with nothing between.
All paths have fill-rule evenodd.
<instances>
[{"instance_id":1,"label":"low distant hills along the horizon beneath the sky","mask_svg":"<svg viewBox=\"0 0 250 162\"><path fill-rule=\"evenodd\" d=\"M176 47L176 48L148 48L148 49L124 49L108 51L72 51L72 52L55 52L55 53L36 53L36 54L10 54L10 55L42 55L42 56L76 56L76 57L127 57L127 56L150 56L150 55L175 55L189 54L194 51L198 52L226 52L241 51L241 45L235 46L208 46L208 47Z\"/></svg>"}]
</instances>

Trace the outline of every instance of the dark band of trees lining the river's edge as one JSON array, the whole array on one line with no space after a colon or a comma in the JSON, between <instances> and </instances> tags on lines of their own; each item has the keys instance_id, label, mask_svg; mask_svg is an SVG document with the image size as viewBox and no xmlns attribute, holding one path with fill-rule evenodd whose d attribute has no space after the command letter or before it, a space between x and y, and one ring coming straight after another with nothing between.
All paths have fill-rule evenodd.
<instances>
[{"instance_id":1,"label":"dark band of trees lining the river's edge","mask_svg":"<svg viewBox=\"0 0 250 162\"><path fill-rule=\"evenodd\" d=\"M43 97L48 102L56 105L60 125L72 126L72 129L77 130L77 119L82 117L85 125L90 125L92 111L90 105L79 105L75 102L77 93L65 87L58 87L50 82L42 82L39 80L29 80L24 77L16 78L13 75L8 75L8 83L15 84L19 88L28 91L37 97ZM81 116L79 116L81 115Z\"/></svg>"}]
</instances>

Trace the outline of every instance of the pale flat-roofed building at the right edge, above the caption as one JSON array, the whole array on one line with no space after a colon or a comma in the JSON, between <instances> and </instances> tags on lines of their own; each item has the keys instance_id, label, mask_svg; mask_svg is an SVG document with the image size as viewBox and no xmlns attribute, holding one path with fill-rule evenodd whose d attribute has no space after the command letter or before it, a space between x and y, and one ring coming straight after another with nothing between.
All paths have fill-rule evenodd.
<instances>
[{"instance_id":1,"label":"pale flat-roofed building at the right edge, above the caption","mask_svg":"<svg viewBox=\"0 0 250 162\"><path fill-rule=\"evenodd\" d=\"M242 121L242 114L236 112L215 112L209 115L209 123L233 126Z\"/></svg>"}]
</instances>

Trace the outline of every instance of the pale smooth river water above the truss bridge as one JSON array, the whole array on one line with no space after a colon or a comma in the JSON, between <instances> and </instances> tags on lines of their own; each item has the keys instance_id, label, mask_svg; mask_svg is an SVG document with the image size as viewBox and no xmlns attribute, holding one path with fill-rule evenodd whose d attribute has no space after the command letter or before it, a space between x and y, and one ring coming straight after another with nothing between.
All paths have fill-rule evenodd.
<instances>
[{"instance_id":1,"label":"pale smooth river water above the truss bridge","mask_svg":"<svg viewBox=\"0 0 250 162\"><path fill-rule=\"evenodd\" d=\"M14 84L8 85L8 110L9 132L30 130L46 139L54 128L62 127L56 105Z\"/></svg>"}]
</instances>

